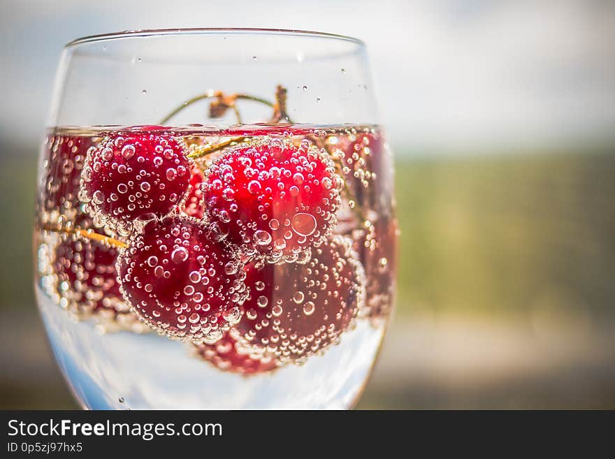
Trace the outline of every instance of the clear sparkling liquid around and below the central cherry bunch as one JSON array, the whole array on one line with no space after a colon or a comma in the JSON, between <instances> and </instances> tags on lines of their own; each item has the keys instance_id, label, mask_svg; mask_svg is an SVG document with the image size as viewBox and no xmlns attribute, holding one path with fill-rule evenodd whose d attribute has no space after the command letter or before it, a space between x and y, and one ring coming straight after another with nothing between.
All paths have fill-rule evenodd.
<instances>
[{"instance_id":1,"label":"clear sparkling liquid around and below the central cherry bunch","mask_svg":"<svg viewBox=\"0 0 615 459\"><path fill-rule=\"evenodd\" d=\"M393 299L396 221L390 158L382 134L375 128L349 126L291 126L284 131L268 126L243 126L232 132L171 131L173 136L199 145L249 134L260 139L282 137L293 143L308 139L329 151L350 147L340 175L352 194L342 194L333 233L352 241L360 255L361 273L364 271L361 275L366 277L365 301L356 318L331 344L297 361L277 362L254 374L239 374L241 369L233 365L213 365L212 360L202 358L191 340L169 340L150 333L150 327L138 321L124 298L111 298L117 296L111 295L112 290L101 298L97 281L88 284L92 281L80 279L81 271L67 268L64 263L61 270L80 272L77 279L69 276L68 280L66 272L58 271L58 245L67 238L73 243L82 237L50 231L50 226L59 222L58 227L71 228L71 224L78 224L85 207L78 200L74 171L84 151L72 147L73 143L57 147L57 138L78 138L82 145L96 146L103 136L122 132L126 130L59 129L50 133L52 140L43 150L35 232L36 293L52 349L82 405L90 409L352 407L377 356ZM361 140L363 136L368 140ZM207 167L208 163L201 164L201 168ZM109 234L103 228L93 231ZM114 237L125 240L122 235ZM78 258L71 260L73 265L75 260L81 262ZM107 279L112 282L110 279L113 275ZM284 282L282 277L276 282L277 279ZM216 349L215 343L209 346Z\"/></svg>"}]
</instances>

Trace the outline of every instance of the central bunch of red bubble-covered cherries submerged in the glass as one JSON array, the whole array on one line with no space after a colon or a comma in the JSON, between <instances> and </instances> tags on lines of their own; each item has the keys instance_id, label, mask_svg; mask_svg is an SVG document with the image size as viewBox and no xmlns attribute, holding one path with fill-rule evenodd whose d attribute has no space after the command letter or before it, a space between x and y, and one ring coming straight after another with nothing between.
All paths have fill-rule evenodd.
<instances>
[{"instance_id":1,"label":"central bunch of red bubble-covered cherries submerged in the glass","mask_svg":"<svg viewBox=\"0 0 615 459\"><path fill-rule=\"evenodd\" d=\"M80 169L86 213L75 226L125 242L57 247L75 303L122 298L150 328L242 373L321 352L365 303L352 239L332 234L342 179L308 140L243 140L205 166L182 138L118 133L89 147Z\"/></svg>"}]
</instances>

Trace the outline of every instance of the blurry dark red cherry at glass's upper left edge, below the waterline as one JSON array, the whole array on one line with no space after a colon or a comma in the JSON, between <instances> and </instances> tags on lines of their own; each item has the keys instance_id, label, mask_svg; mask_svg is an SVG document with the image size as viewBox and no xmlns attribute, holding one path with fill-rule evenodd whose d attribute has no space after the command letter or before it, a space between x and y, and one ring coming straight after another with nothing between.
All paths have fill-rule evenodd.
<instances>
[{"instance_id":1,"label":"blurry dark red cherry at glass's upper left edge, below the waterline","mask_svg":"<svg viewBox=\"0 0 615 459\"><path fill-rule=\"evenodd\" d=\"M87 137L58 135L47 139L39 192L42 210L66 214L78 207L81 169L89 147L92 141Z\"/></svg>"}]
</instances>

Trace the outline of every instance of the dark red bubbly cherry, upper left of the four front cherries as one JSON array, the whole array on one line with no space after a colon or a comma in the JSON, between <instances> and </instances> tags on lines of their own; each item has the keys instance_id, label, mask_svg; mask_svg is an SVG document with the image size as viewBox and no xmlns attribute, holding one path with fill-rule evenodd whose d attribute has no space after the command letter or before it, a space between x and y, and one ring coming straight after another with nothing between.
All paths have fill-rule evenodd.
<instances>
[{"instance_id":1,"label":"dark red bubbly cherry, upper left of the four front cherries","mask_svg":"<svg viewBox=\"0 0 615 459\"><path fill-rule=\"evenodd\" d=\"M105 138L90 150L80 192L96 224L121 233L135 219L168 214L184 197L190 170L182 139L126 134Z\"/></svg>"}]
</instances>

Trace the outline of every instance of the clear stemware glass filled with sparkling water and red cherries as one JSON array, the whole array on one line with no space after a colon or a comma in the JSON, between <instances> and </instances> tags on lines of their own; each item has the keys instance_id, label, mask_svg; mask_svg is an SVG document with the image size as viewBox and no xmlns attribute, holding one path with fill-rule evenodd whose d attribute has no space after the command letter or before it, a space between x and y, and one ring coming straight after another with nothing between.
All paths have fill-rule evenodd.
<instances>
[{"instance_id":1,"label":"clear stemware glass filled with sparkling water and red cherries","mask_svg":"<svg viewBox=\"0 0 615 459\"><path fill-rule=\"evenodd\" d=\"M66 45L36 295L83 407L352 407L395 289L375 105L356 38L174 29Z\"/></svg>"}]
</instances>

